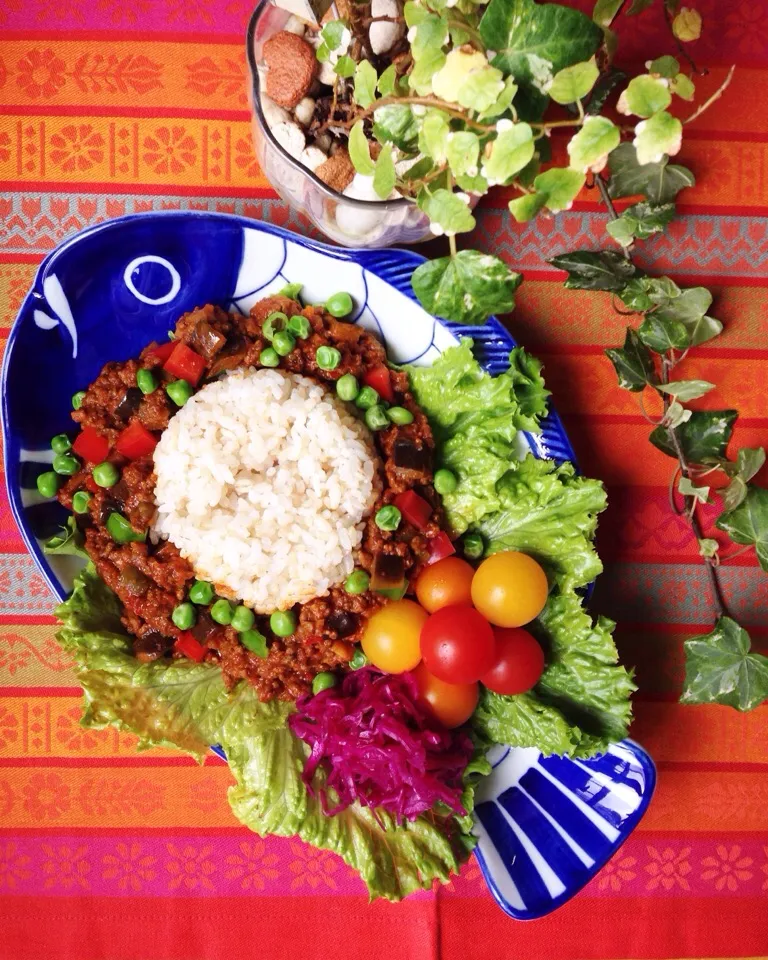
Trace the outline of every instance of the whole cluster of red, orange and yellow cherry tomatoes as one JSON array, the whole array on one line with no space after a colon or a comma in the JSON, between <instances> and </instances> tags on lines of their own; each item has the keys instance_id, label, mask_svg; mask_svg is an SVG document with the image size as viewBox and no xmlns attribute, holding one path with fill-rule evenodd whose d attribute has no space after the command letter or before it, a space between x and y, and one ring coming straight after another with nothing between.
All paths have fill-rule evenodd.
<instances>
[{"instance_id":1,"label":"whole cluster of red, orange and yellow cherry tomatoes","mask_svg":"<svg viewBox=\"0 0 768 960\"><path fill-rule=\"evenodd\" d=\"M544 652L522 630L547 599L547 577L524 553L495 553L475 570L447 557L426 567L413 600L388 603L368 621L363 652L386 673L414 671L422 698L447 727L472 715L479 683L525 693L544 670Z\"/></svg>"}]
</instances>

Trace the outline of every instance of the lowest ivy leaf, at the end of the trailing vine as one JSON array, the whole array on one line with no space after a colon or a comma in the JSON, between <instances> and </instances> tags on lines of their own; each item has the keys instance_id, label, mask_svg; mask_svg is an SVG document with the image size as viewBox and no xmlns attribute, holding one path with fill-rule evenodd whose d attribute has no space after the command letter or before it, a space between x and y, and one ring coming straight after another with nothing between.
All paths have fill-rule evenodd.
<instances>
[{"instance_id":1,"label":"lowest ivy leaf, at the end of the trailing vine","mask_svg":"<svg viewBox=\"0 0 768 960\"><path fill-rule=\"evenodd\" d=\"M721 703L752 710L768 697L768 657L752 653L747 631L730 617L686 640L681 703Z\"/></svg>"}]
</instances>

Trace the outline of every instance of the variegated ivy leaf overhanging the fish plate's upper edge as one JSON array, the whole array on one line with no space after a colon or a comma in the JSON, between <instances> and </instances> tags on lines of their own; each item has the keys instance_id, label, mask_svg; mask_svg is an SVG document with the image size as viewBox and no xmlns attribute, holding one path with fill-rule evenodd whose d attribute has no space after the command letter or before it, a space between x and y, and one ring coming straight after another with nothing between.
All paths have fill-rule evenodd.
<instances>
[{"instance_id":1,"label":"variegated ivy leaf overhanging the fish plate's upper edge","mask_svg":"<svg viewBox=\"0 0 768 960\"><path fill-rule=\"evenodd\" d=\"M509 313L522 277L498 257L460 250L455 257L427 260L414 271L412 284L429 313L455 323L484 323L494 313Z\"/></svg>"}]
</instances>

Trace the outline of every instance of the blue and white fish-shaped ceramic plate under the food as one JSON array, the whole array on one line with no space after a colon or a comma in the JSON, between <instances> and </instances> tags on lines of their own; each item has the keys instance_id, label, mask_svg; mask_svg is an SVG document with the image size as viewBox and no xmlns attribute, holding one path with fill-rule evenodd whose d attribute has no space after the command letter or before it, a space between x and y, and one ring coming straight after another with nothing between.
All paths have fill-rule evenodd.
<instances>
[{"instance_id":1,"label":"blue and white fish-shaped ceramic plate under the food","mask_svg":"<svg viewBox=\"0 0 768 960\"><path fill-rule=\"evenodd\" d=\"M51 590L63 599L76 571L47 557L42 541L64 519L37 493L50 469L50 438L72 428L72 394L108 360L125 360L204 303L247 313L289 282L319 303L339 290L354 320L386 344L397 363L432 363L460 328L427 314L410 277L422 257L403 250L342 250L241 217L212 213L139 214L84 230L40 266L8 338L2 375L8 496L22 536ZM464 332L464 331L462 331ZM515 345L495 319L467 331L491 373ZM555 413L521 451L573 460ZM542 916L573 896L626 840L650 800L650 758L625 741L589 761L501 750L478 792L477 857L508 914Z\"/></svg>"}]
</instances>

